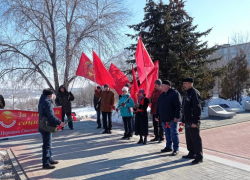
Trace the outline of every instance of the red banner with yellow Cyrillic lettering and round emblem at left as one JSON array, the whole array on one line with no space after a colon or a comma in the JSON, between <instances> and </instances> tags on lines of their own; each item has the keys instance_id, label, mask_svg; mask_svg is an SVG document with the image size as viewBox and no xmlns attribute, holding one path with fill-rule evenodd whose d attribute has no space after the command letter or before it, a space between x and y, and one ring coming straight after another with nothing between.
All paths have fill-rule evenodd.
<instances>
[{"instance_id":1,"label":"red banner with yellow Cyrillic lettering and round emblem at left","mask_svg":"<svg viewBox=\"0 0 250 180\"><path fill-rule=\"evenodd\" d=\"M54 108L62 119L62 108ZM39 115L36 111L0 110L0 138L38 133Z\"/></svg>"}]
</instances>

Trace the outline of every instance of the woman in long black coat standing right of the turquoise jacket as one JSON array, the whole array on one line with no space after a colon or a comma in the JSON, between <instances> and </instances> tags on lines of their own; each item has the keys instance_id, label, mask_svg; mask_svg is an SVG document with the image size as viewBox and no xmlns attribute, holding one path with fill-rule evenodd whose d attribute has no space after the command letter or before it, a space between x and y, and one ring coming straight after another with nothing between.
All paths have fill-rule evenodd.
<instances>
[{"instance_id":1,"label":"woman in long black coat standing right of the turquoise jacket","mask_svg":"<svg viewBox=\"0 0 250 180\"><path fill-rule=\"evenodd\" d=\"M138 144L143 143L147 144L147 136L148 136L148 104L149 100L146 98L145 91L140 89L138 92L138 104L136 107L136 115L135 115L135 135L140 136L140 140ZM143 140L144 136L144 140Z\"/></svg>"}]
</instances>

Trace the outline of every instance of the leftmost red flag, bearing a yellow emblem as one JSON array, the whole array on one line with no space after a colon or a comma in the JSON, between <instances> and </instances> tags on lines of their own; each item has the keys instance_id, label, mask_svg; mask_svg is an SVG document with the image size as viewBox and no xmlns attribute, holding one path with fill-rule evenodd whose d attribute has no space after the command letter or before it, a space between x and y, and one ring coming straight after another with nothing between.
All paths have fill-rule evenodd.
<instances>
[{"instance_id":1,"label":"leftmost red flag, bearing a yellow emblem","mask_svg":"<svg viewBox=\"0 0 250 180\"><path fill-rule=\"evenodd\" d=\"M82 53L77 71L77 76L83 76L91 81L95 81L94 67L90 59Z\"/></svg>"}]
</instances>

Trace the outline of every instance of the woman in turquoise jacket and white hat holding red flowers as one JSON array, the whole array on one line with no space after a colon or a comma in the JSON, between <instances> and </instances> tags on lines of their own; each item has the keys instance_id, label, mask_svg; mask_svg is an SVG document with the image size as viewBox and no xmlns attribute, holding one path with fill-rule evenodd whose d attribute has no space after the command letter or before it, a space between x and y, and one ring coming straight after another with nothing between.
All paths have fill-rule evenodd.
<instances>
[{"instance_id":1,"label":"woman in turquoise jacket and white hat holding red flowers","mask_svg":"<svg viewBox=\"0 0 250 180\"><path fill-rule=\"evenodd\" d=\"M116 108L118 112L120 109L121 116L124 124L124 136L122 139L130 139L133 136L133 126L132 126L132 118L133 118L133 107L134 101L131 99L130 94L128 93L128 87L122 88L122 96L119 100L119 104Z\"/></svg>"}]
</instances>

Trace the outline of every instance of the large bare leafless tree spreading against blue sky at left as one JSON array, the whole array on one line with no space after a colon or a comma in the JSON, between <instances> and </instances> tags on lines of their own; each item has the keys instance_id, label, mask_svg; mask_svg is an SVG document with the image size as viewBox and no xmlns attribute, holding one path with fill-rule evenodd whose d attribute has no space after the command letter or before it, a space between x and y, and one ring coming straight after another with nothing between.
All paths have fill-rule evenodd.
<instances>
[{"instance_id":1,"label":"large bare leafless tree spreading against blue sky at left","mask_svg":"<svg viewBox=\"0 0 250 180\"><path fill-rule=\"evenodd\" d=\"M99 0L104 53L121 43L128 10L122 0ZM95 0L1 0L0 78L67 88L81 51L97 47ZM95 48L94 48L95 49ZM63 77L63 80L62 78ZM9 79L8 79L9 80ZM53 85L54 84L54 85Z\"/></svg>"}]
</instances>

